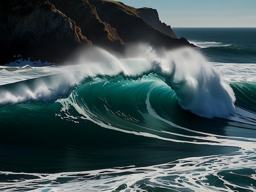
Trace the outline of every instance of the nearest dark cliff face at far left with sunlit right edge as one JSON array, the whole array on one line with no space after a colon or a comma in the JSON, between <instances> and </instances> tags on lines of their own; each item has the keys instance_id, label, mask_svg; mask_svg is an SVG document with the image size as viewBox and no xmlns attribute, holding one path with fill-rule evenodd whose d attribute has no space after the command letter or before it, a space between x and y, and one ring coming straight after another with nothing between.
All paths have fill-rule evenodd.
<instances>
[{"instance_id":1,"label":"nearest dark cliff face at far left with sunlit right edge","mask_svg":"<svg viewBox=\"0 0 256 192\"><path fill-rule=\"evenodd\" d=\"M92 44L73 20L46 0L1 2L0 11L2 63L18 54L59 62L81 43Z\"/></svg>"}]
</instances>

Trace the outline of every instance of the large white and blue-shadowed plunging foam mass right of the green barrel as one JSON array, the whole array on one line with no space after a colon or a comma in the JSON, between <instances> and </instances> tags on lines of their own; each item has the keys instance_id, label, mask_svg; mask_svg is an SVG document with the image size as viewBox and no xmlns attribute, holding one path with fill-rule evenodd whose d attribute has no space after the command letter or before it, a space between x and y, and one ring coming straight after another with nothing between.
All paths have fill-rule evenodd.
<instances>
[{"instance_id":1,"label":"large white and blue-shadowed plunging foam mass right of the green barrel","mask_svg":"<svg viewBox=\"0 0 256 192\"><path fill-rule=\"evenodd\" d=\"M159 75L175 90L183 109L207 118L234 114L233 90L198 51L186 48L166 52L162 69Z\"/></svg>"}]
</instances>

